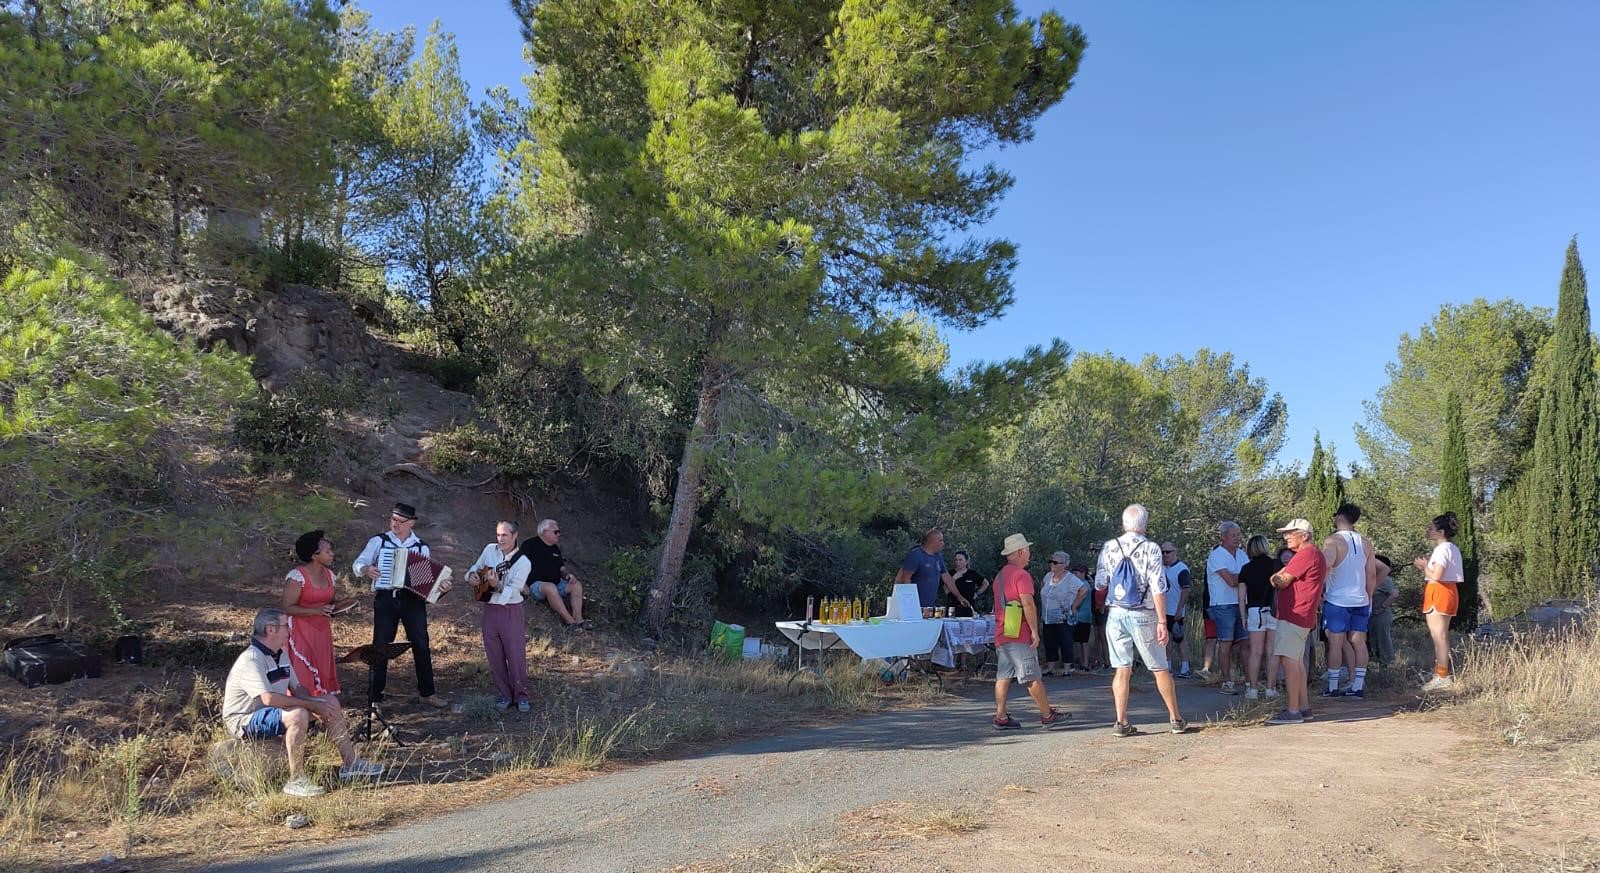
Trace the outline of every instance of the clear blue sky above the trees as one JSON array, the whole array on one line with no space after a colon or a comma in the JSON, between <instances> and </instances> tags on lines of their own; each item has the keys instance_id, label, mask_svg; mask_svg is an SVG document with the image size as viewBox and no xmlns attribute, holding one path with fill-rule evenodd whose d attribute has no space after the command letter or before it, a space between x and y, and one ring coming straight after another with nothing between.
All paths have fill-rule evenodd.
<instances>
[{"instance_id":1,"label":"clear blue sky above the trees","mask_svg":"<svg viewBox=\"0 0 1600 873\"><path fill-rule=\"evenodd\" d=\"M456 34L474 90L526 66L502 0L370 0ZM1090 50L986 235L1016 304L957 363L1230 350L1290 408L1282 460L1352 425L1402 333L1446 302L1555 305L1576 233L1600 265L1600 3L1021 2ZM1590 305L1600 301L1590 299Z\"/></svg>"}]
</instances>

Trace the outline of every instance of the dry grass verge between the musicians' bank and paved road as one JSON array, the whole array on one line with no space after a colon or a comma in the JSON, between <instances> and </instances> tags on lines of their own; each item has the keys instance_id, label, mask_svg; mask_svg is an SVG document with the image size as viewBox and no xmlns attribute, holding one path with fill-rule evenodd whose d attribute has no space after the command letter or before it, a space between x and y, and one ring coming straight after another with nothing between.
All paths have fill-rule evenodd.
<instances>
[{"instance_id":1,"label":"dry grass verge between the musicians' bank and paved road","mask_svg":"<svg viewBox=\"0 0 1600 873\"><path fill-rule=\"evenodd\" d=\"M942 694L933 683L885 691L874 673L845 659L826 683L790 683L792 673L770 662L656 659L629 675L547 646L546 665L568 660L568 672L534 676L530 715L501 713L493 697L466 694L462 715L426 713L443 720L427 731L435 739L365 747L363 756L387 766L376 782L341 783L333 743L314 735L307 772L330 788L320 798L280 791L286 766L278 745L234 745L219 772L213 747L226 737L216 683L171 678L118 707L131 720L122 734L54 724L0 750L0 868L54 868L106 852L203 865L570 782L619 761ZM416 715L406 721L414 724ZM451 724L451 732L437 724ZM419 739L418 728L408 731ZM306 814L312 827L259 827L282 825L291 812ZM218 841L224 830L237 838Z\"/></svg>"}]
</instances>

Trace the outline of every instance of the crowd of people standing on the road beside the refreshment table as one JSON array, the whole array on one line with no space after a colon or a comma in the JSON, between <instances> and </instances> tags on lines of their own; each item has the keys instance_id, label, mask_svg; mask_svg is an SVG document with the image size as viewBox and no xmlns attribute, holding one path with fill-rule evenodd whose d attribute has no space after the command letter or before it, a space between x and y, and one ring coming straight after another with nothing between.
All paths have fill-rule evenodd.
<instances>
[{"instance_id":1,"label":"crowd of people standing on the road beside the refreshment table","mask_svg":"<svg viewBox=\"0 0 1600 873\"><path fill-rule=\"evenodd\" d=\"M1005 564L990 587L965 552L955 553L957 574L947 572L944 534L933 529L906 555L896 582L915 584L925 606L944 593L958 616L973 614L978 595L992 592L997 729L1019 726L1006 705L1011 683L1029 691L1045 724L1056 724L1064 713L1050 705L1043 678L1088 672L1112 676L1117 735L1138 732L1126 720L1134 659L1154 675L1174 732L1187 728L1174 678L1198 678L1250 700L1283 700L1267 721L1299 724L1312 718L1312 691L1325 699L1365 697L1373 659L1394 660L1394 561L1355 531L1360 518L1358 505L1342 504L1320 540L1309 520L1291 520L1277 528L1282 547L1275 552L1267 536L1246 539L1237 523L1222 521L1203 582L1179 560L1176 545L1149 539L1149 513L1138 504L1123 512L1122 536L1091 550L1093 576L1058 550L1037 585L1027 572L1034 544L1022 534L1006 537ZM1424 576L1422 614L1435 660L1422 691L1454 681L1448 630L1462 580L1461 550L1451 542L1456 531L1454 513L1434 518L1427 528L1434 550L1413 561ZM1190 670L1182 644L1190 606L1205 633L1198 672ZM1318 649L1325 686L1312 689Z\"/></svg>"}]
</instances>

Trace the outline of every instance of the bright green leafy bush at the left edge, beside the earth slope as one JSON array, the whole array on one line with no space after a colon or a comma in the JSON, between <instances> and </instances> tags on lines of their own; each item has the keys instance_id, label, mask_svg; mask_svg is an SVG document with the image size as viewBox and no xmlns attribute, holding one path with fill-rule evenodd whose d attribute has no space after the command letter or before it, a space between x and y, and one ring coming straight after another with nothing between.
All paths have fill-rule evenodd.
<instances>
[{"instance_id":1,"label":"bright green leafy bush at the left edge, beside the earth slope","mask_svg":"<svg viewBox=\"0 0 1600 873\"><path fill-rule=\"evenodd\" d=\"M0 568L122 620L194 449L226 432L251 385L240 357L174 341L85 262L13 269L0 285Z\"/></svg>"}]
</instances>

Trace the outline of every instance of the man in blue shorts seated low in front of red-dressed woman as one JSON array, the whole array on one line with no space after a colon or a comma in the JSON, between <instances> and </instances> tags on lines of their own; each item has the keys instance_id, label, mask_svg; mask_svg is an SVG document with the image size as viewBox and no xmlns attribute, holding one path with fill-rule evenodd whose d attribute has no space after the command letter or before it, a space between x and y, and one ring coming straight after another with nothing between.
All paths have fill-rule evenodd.
<instances>
[{"instance_id":1,"label":"man in blue shorts seated low in front of red-dressed woman","mask_svg":"<svg viewBox=\"0 0 1600 873\"><path fill-rule=\"evenodd\" d=\"M222 724L227 732L245 740L283 737L290 751L290 780L283 785L283 793L296 798L314 798L325 791L306 775L306 734L310 732L312 718L322 721L339 747L339 756L344 758L339 779L382 774L382 764L355 756L339 699L312 697L294 681L283 654L288 640L290 622L282 609L256 612L253 640L234 660L222 688Z\"/></svg>"}]
</instances>

